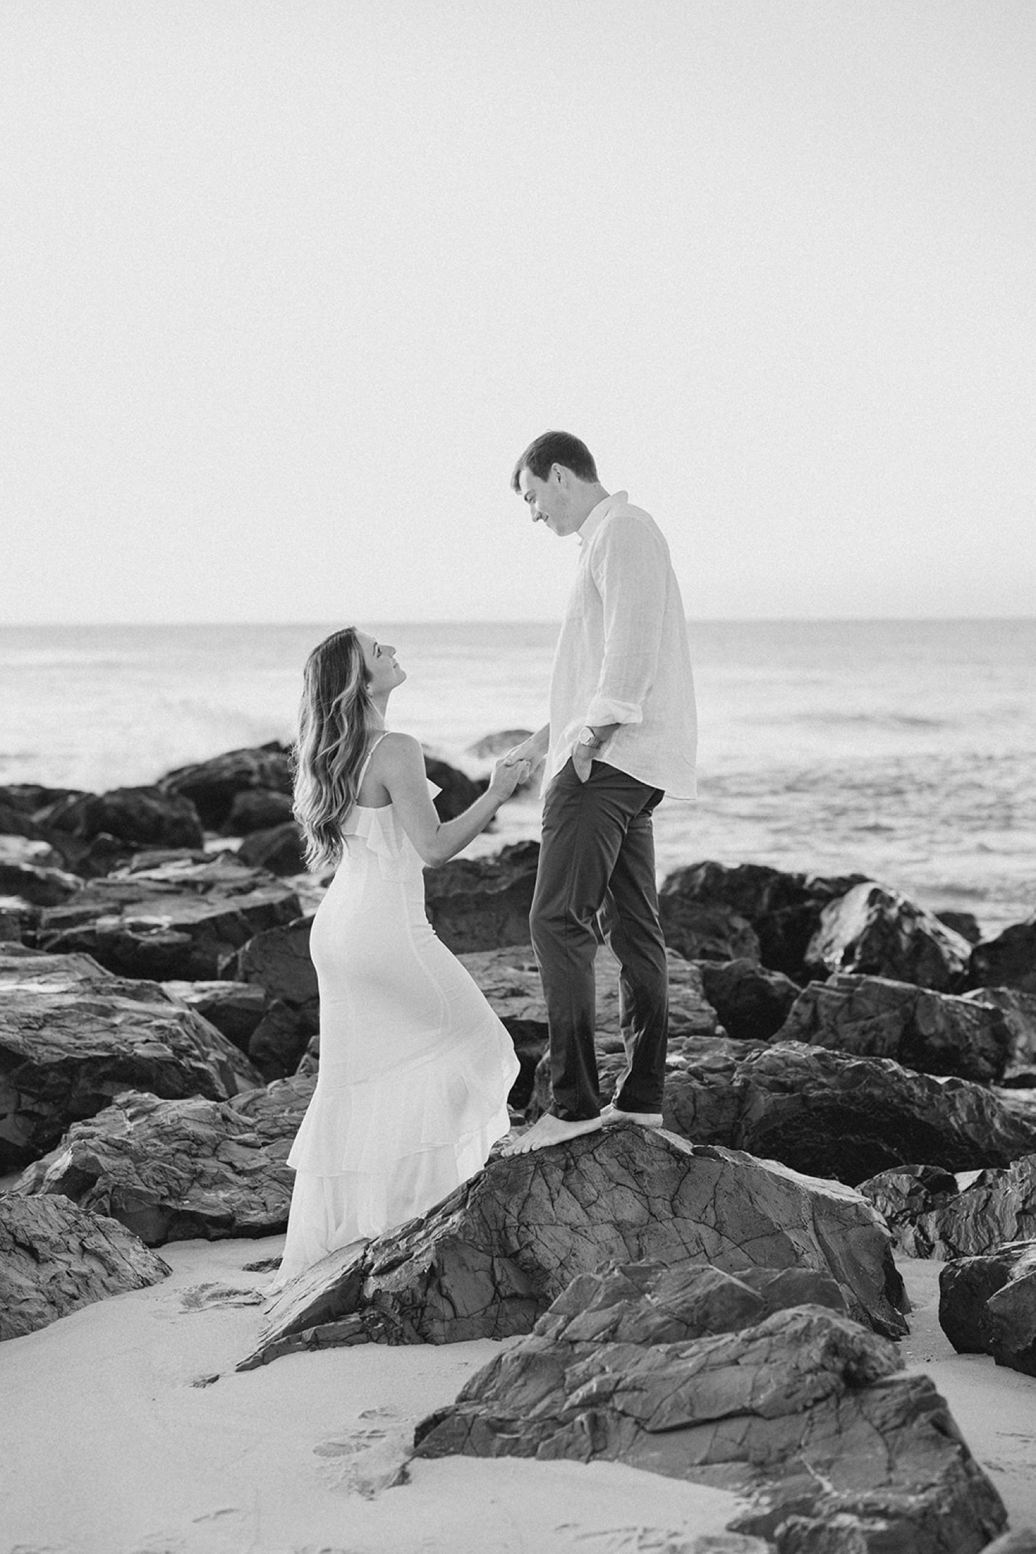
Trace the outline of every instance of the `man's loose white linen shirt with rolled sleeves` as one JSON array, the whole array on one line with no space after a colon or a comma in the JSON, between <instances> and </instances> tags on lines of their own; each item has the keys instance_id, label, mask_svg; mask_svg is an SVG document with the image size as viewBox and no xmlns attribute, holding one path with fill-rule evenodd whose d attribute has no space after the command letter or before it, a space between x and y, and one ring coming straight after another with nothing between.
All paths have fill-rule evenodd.
<instances>
[{"instance_id":1,"label":"man's loose white linen shirt with rolled sleeves","mask_svg":"<svg viewBox=\"0 0 1036 1554\"><path fill-rule=\"evenodd\" d=\"M598 502L578 533L579 570L550 681L544 786L572 755L579 729L618 723L595 760L673 799L694 799L694 679L665 536L626 491Z\"/></svg>"}]
</instances>

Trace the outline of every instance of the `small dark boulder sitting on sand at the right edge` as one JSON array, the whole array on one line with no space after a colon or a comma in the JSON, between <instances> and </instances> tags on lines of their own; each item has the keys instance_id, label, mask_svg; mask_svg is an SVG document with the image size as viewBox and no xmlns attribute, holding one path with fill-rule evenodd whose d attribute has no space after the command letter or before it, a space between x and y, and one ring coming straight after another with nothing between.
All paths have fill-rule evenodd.
<instances>
[{"instance_id":1,"label":"small dark boulder sitting on sand at the right edge","mask_svg":"<svg viewBox=\"0 0 1036 1554\"><path fill-rule=\"evenodd\" d=\"M1036 1375L1036 1239L946 1263L938 1319L958 1354Z\"/></svg>"}]
</instances>

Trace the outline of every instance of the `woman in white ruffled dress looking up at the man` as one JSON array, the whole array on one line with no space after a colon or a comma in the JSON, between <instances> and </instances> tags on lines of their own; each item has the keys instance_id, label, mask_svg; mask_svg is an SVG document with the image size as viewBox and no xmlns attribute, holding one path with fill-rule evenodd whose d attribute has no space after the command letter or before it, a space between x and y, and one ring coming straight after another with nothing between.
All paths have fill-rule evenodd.
<instances>
[{"instance_id":1,"label":"woman in white ruffled dress looking up at the man","mask_svg":"<svg viewBox=\"0 0 1036 1554\"><path fill-rule=\"evenodd\" d=\"M314 917L320 1072L289 1166L295 1189L276 1287L438 1203L508 1131L519 1064L505 1027L424 912L422 864L472 841L528 765L440 821L421 746L385 730L405 679L395 648L354 626L309 656L295 816L312 869L337 864Z\"/></svg>"}]
</instances>

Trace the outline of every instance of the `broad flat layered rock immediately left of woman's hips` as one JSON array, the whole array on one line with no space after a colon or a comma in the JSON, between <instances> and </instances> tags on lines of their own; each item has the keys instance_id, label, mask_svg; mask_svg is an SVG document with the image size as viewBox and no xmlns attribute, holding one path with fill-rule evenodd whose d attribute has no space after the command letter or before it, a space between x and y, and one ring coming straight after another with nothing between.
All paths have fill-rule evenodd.
<instances>
[{"instance_id":1,"label":"broad flat layered rock immediately left of woman's hips","mask_svg":"<svg viewBox=\"0 0 1036 1554\"><path fill-rule=\"evenodd\" d=\"M85 951L120 976L210 981L249 939L300 911L295 890L235 858L177 859L95 880L42 912L36 943Z\"/></svg>"}]
</instances>

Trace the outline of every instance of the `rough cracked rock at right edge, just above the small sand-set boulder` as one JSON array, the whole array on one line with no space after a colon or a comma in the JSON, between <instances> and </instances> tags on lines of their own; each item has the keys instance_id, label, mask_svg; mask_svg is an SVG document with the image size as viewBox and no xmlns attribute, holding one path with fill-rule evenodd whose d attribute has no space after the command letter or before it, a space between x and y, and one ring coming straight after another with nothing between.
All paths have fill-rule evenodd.
<instances>
[{"instance_id":1,"label":"rough cracked rock at right edge, just above the small sand-set boulder","mask_svg":"<svg viewBox=\"0 0 1036 1554\"><path fill-rule=\"evenodd\" d=\"M865 1186L870 1197L874 1183ZM1003 1242L1036 1239L1036 1153L979 1172L961 1192L946 1189L927 1203L923 1193L915 1204L904 1201L895 1235L909 1256L941 1259L982 1257Z\"/></svg>"}]
</instances>

